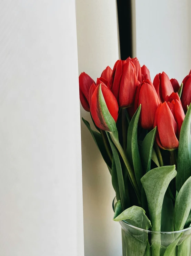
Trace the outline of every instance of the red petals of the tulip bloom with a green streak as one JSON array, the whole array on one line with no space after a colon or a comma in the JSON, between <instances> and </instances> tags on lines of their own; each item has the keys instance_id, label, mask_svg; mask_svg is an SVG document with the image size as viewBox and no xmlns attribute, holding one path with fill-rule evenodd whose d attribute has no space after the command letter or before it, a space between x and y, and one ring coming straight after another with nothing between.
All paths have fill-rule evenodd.
<instances>
[{"instance_id":1,"label":"red petals of the tulip bloom with a green streak","mask_svg":"<svg viewBox=\"0 0 191 256\"><path fill-rule=\"evenodd\" d=\"M108 111L112 116L113 120L115 121L115 123L117 122L118 110L119 110L117 100L113 95L113 93L111 92L111 90L107 86L104 86L101 84L98 85L96 88L94 87L94 85L92 85L90 90L90 93L92 93L92 91L94 90L92 96L90 95L91 115L95 124L100 129L105 131L110 131L107 120L104 118L104 113L103 113L104 109L102 108L102 104L100 101L100 87L101 87L103 98L105 100L105 104L107 105Z\"/></svg>"}]
</instances>

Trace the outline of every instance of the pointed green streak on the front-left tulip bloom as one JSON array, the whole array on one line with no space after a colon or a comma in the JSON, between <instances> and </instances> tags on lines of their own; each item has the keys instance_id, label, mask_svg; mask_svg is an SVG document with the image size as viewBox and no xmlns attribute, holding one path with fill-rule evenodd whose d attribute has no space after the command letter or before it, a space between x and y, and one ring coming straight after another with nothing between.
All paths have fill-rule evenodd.
<instances>
[{"instance_id":1,"label":"pointed green streak on the front-left tulip bloom","mask_svg":"<svg viewBox=\"0 0 191 256\"><path fill-rule=\"evenodd\" d=\"M99 85L99 104L100 104L100 111L103 117L103 122L107 124L109 131L111 132L116 131L117 130L116 123L108 110L107 104L105 103L105 99L103 97L103 93L101 90L101 85Z\"/></svg>"}]
</instances>

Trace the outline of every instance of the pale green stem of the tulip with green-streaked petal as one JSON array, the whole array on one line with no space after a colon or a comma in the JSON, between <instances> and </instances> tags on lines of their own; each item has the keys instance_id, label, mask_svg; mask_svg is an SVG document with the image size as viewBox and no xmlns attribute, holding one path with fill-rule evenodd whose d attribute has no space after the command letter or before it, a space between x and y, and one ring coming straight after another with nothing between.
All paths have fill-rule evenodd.
<instances>
[{"instance_id":1,"label":"pale green stem of the tulip with green-streaked petal","mask_svg":"<svg viewBox=\"0 0 191 256\"><path fill-rule=\"evenodd\" d=\"M117 131L116 131L117 132ZM110 133L110 136L111 136L111 139L113 141L113 143L115 144L115 146L117 147L124 163L125 163L125 166L127 167L127 170L128 170L128 176L129 176L129 179L131 181L131 184L137 194L137 197L138 197L138 201L139 201L139 204L141 204L141 192L139 190L139 186L137 184L137 180L135 178L135 174L134 174L134 171L127 159L127 156L125 155L125 152L123 150L123 148L121 147L121 144L119 143L119 139L118 139L118 132L115 133L115 132L111 132Z\"/></svg>"}]
</instances>

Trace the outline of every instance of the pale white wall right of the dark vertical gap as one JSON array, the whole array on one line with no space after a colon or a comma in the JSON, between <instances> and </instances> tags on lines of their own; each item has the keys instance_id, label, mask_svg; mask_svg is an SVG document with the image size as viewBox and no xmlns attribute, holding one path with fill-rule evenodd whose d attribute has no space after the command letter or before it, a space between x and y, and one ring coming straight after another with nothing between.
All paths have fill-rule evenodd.
<instances>
[{"instance_id":1,"label":"pale white wall right of the dark vertical gap","mask_svg":"<svg viewBox=\"0 0 191 256\"><path fill-rule=\"evenodd\" d=\"M190 2L135 0L137 57L152 79L164 71L181 83L191 69Z\"/></svg>"}]
</instances>

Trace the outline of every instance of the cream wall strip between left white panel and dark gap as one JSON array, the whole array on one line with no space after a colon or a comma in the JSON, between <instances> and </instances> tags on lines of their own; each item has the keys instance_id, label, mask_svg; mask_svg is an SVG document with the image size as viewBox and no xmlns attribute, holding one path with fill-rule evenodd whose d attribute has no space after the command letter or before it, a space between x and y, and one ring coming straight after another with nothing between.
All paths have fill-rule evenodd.
<instances>
[{"instance_id":1,"label":"cream wall strip between left white panel and dark gap","mask_svg":"<svg viewBox=\"0 0 191 256\"><path fill-rule=\"evenodd\" d=\"M94 80L119 59L115 0L77 0L79 74ZM93 128L90 114L81 117ZM111 175L87 127L81 122L85 256L120 256L120 224L112 220L114 190Z\"/></svg>"}]
</instances>

